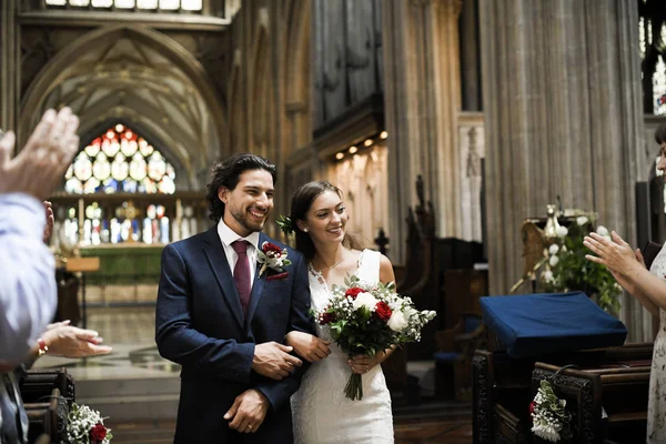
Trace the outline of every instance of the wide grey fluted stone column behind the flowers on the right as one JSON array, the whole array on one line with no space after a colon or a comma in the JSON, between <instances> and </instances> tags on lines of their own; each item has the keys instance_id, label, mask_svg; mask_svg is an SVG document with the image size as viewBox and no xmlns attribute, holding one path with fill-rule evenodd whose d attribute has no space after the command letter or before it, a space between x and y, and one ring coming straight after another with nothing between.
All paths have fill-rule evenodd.
<instances>
[{"instance_id":1,"label":"wide grey fluted stone column behind the flowers on the right","mask_svg":"<svg viewBox=\"0 0 666 444\"><path fill-rule=\"evenodd\" d=\"M626 0L481 0L492 294L521 278L523 219L556 195L635 244L637 23ZM620 317L639 322L633 300Z\"/></svg>"}]
</instances>

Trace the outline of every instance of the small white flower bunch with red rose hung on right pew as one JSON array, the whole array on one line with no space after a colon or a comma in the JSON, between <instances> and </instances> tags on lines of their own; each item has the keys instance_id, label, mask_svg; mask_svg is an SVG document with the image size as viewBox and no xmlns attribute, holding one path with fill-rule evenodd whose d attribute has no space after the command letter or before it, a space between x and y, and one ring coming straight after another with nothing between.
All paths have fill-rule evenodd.
<instances>
[{"instance_id":1,"label":"small white flower bunch with red rose hung on right pew","mask_svg":"<svg viewBox=\"0 0 666 444\"><path fill-rule=\"evenodd\" d=\"M542 440L556 443L572 437L572 414L566 410L566 400L555 395L551 383L542 380L541 386L529 404L532 432Z\"/></svg>"}]
</instances>

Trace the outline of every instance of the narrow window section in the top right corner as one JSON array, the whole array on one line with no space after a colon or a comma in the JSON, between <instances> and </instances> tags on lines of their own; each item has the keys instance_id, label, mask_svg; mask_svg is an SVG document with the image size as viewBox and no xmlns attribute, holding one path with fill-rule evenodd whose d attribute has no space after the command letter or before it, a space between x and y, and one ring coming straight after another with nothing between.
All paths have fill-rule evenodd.
<instances>
[{"instance_id":1,"label":"narrow window section in the top right corner","mask_svg":"<svg viewBox=\"0 0 666 444\"><path fill-rule=\"evenodd\" d=\"M638 1L643 111L666 114L666 9L663 0Z\"/></svg>"}]
</instances>

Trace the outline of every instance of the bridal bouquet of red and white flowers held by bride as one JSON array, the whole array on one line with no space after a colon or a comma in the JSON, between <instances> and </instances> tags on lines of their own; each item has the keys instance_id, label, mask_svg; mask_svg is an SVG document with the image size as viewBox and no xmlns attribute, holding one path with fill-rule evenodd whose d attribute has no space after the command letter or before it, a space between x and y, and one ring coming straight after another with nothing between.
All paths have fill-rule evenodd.
<instances>
[{"instance_id":1,"label":"bridal bouquet of red and white flowers held by bride","mask_svg":"<svg viewBox=\"0 0 666 444\"><path fill-rule=\"evenodd\" d=\"M333 285L330 304L315 315L351 359L374 356L392 345L421 341L421 329L436 313L414 309L410 297L395 292L393 282L369 286L352 276L344 286ZM352 373L344 393L352 401L363 398L360 374Z\"/></svg>"}]
</instances>

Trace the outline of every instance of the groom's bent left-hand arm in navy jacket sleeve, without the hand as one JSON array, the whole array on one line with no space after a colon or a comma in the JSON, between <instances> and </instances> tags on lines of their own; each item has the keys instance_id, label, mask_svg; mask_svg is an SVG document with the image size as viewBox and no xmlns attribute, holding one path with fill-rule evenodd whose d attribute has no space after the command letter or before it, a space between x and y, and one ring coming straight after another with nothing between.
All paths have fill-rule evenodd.
<instances>
[{"instance_id":1,"label":"groom's bent left-hand arm in navy jacket sleeve, without the hand","mask_svg":"<svg viewBox=\"0 0 666 444\"><path fill-rule=\"evenodd\" d=\"M188 275L188 264L176 246L167 245L155 311L160 355L181 365L210 370L229 381L249 382L254 344L209 337L192 327Z\"/></svg>"}]
</instances>

